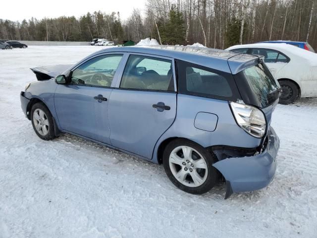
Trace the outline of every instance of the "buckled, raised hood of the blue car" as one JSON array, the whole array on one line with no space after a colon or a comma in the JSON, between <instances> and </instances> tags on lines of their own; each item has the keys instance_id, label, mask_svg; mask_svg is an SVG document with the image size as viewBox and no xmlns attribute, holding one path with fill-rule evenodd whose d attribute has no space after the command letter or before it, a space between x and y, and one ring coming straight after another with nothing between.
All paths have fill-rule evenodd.
<instances>
[{"instance_id":1,"label":"buckled, raised hood of the blue car","mask_svg":"<svg viewBox=\"0 0 317 238\"><path fill-rule=\"evenodd\" d=\"M31 70L35 73L36 78L39 81L43 81L43 80L48 80L62 74L74 64L75 63L40 66L36 68L31 68Z\"/></svg>"}]
</instances>

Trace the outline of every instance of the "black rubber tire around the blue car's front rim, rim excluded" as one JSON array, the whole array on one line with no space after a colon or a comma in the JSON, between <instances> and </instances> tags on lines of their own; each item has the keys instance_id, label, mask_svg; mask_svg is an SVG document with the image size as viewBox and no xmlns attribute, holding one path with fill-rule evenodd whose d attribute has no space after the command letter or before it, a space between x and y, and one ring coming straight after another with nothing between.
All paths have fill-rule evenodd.
<instances>
[{"instance_id":1,"label":"black rubber tire around the blue car's front rim, rim excluded","mask_svg":"<svg viewBox=\"0 0 317 238\"><path fill-rule=\"evenodd\" d=\"M49 125L48 125L48 133L46 135L41 135L37 131L36 127L35 127L35 122L34 122L33 116L34 116L34 112L37 109L42 110L45 113L46 119L48 119ZM33 126L33 129L34 129L35 133L41 139L43 139L43 140L52 140L53 138L56 137L55 133L54 133L54 123L53 123L52 114L51 114L50 110L43 103L36 103L36 104L34 104L32 106L32 109L31 109L31 121L32 121L32 126Z\"/></svg>"}]
</instances>

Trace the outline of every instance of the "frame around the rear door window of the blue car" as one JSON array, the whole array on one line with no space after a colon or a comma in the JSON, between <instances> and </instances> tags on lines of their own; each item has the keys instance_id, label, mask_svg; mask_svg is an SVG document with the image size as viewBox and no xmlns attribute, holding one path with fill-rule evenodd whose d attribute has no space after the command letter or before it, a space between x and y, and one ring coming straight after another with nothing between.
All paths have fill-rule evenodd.
<instances>
[{"instance_id":1,"label":"frame around the rear door window of the blue car","mask_svg":"<svg viewBox=\"0 0 317 238\"><path fill-rule=\"evenodd\" d=\"M169 58L169 57L164 57L164 56L158 56L158 55L152 55L152 54L142 54L142 53L134 53L134 52L130 52L130 53L126 53L126 56L124 57L125 59L121 60L120 64L122 66L122 69L120 70L120 72L118 73L118 80L116 82L116 84L114 85L115 89L121 89L121 90L135 90L135 91L154 91L154 92L168 92L168 93L174 93L173 91L162 91L162 90L153 90L153 89L129 89L129 88L120 88L120 84L121 84L121 80L122 80L122 76L123 76L123 71L124 68L128 62L128 59L130 56L145 56L145 57L153 57L153 58L157 58L157 59L163 59L163 60L171 60L172 61L172 68L173 68L173 80L174 80L174 92L177 92L177 85L176 85L176 65L175 65L175 59L173 58Z\"/></svg>"}]
</instances>

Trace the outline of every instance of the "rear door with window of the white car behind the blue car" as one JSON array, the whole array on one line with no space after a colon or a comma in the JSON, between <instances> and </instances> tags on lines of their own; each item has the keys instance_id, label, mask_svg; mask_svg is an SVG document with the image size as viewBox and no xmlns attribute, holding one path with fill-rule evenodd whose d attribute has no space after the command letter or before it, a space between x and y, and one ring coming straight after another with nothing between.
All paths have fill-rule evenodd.
<instances>
[{"instance_id":1,"label":"rear door with window of the white car behind the blue car","mask_svg":"<svg viewBox=\"0 0 317 238\"><path fill-rule=\"evenodd\" d=\"M252 55L264 56L264 62L274 77L289 62L289 58L281 52L269 49L252 49Z\"/></svg>"}]
</instances>

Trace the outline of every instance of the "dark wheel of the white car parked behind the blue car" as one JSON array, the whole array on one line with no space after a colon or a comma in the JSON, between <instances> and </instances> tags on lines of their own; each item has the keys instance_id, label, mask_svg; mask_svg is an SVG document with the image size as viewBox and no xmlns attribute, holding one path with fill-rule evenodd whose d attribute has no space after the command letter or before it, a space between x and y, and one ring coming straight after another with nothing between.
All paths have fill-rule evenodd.
<instances>
[{"instance_id":1,"label":"dark wheel of the white car parked behind the blue car","mask_svg":"<svg viewBox=\"0 0 317 238\"><path fill-rule=\"evenodd\" d=\"M279 97L279 103L288 105L294 103L299 97L298 86L290 80L280 80L279 84L282 87L282 94Z\"/></svg>"}]
</instances>

